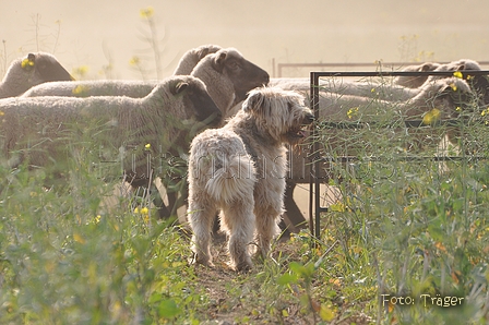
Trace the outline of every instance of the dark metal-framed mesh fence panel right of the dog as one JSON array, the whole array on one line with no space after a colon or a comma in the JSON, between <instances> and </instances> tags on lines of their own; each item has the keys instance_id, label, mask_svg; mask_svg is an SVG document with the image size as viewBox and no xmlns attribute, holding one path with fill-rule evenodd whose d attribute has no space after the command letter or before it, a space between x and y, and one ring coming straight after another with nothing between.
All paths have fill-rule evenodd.
<instances>
[{"instance_id":1,"label":"dark metal-framed mesh fence panel right of the dog","mask_svg":"<svg viewBox=\"0 0 489 325\"><path fill-rule=\"evenodd\" d=\"M311 72L310 100L318 120L309 156L313 176L309 204L311 233L321 237L322 213L351 209L348 197L367 202L354 192L362 188L362 195L367 195L365 185L379 184L377 178L391 179L392 177L399 176L399 170L414 173L415 168L421 168L421 174L429 170L430 178L441 177L461 166L474 169L487 159L486 94L474 87L489 72L460 73L457 76L462 79L468 76L468 92L457 89L453 71ZM433 87L422 96L412 93L424 101L413 104L413 97L396 96L398 87L393 83L396 76L445 80L449 99L443 97L444 88ZM371 89L368 99L358 100L348 93L349 82L345 77L360 77L357 85ZM486 92L487 80L480 89ZM336 93L332 95L332 91ZM363 91L361 95L365 94ZM355 190L351 184L356 184Z\"/></svg>"}]
</instances>

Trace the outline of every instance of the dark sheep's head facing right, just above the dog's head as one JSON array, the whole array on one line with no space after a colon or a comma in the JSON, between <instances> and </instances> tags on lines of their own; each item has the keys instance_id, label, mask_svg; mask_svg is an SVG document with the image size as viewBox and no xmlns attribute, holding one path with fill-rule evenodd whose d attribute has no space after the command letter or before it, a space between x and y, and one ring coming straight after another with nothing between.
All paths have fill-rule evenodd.
<instances>
[{"instance_id":1,"label":"dark sheep's head facing right, just above the dog's head","mask_svg":"<svg viewBox=\"0 0 489 325\"><path fill-rule=\"evenodd\" d=\"M236 93L235 103L244 100L251 89L269 84L269 73L246 60L238 50L234 48L222 49L213 56L214 69L232 82Z\"/></svg>"}]
</instances>

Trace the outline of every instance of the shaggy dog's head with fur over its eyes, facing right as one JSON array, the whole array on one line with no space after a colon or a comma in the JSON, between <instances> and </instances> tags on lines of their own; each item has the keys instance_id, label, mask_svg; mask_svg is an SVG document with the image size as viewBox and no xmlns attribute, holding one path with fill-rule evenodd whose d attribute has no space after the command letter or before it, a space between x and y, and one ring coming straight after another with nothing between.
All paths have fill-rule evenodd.
<instances>
[{"instance_id":1,"label":"shaggy dog's head with fur over its eyes, facing right","mask_svg":"<svg viewBox=\"0 0 489 325\"><path fill-rule=\"evenodd\" d=\"M302 128L314 120L302 95L278 87L251 91L242 104L242 110L254 117L262 136L271 136L281 143L297 144L306 136Z\"/></svg>"}]
</instances>

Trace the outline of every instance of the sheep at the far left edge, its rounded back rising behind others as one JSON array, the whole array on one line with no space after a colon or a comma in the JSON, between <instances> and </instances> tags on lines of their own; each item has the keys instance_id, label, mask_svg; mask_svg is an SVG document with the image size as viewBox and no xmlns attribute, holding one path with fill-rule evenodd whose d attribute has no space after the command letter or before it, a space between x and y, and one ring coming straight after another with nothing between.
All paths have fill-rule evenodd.
<instances>
[{"instance_id":1,"label":"sheep at the far left edge, its rounded back rising behind others","mask_svg":"<svg viewBox=\"0 0 489 325\"><path fill-rule=\"evenodd\" d=\"M10 64L0 83L0 98L19 96L40 83L71 80L73 77L53 56L28 53L26 58L19 58Z\"/></svg>"}]
</instances>

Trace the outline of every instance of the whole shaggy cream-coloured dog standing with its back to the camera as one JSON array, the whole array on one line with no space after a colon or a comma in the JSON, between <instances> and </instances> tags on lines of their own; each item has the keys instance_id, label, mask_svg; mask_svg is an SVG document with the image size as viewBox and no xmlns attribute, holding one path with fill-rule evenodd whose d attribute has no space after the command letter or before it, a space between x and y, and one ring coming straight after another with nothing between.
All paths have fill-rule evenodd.
<instances>
[{"instance_id":1,"label":"whole shaggy cream-coloured dog standing with its back to the camera","mask_svg":"<svg viewBox=\"0 0 489 325\"><path fill-rule=\"evenodd\" d=\"M302 95L262 87L250 92L242 109L224 128L193 139L188 213L195 263L213 265L211 230L219 208L234 269L252 267L253 233L258 253L269 254L284 212L284 143L297 143L303 136L300 128L312 120Z\"/></svg>"}]
</instances>

